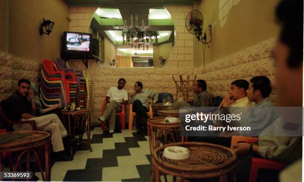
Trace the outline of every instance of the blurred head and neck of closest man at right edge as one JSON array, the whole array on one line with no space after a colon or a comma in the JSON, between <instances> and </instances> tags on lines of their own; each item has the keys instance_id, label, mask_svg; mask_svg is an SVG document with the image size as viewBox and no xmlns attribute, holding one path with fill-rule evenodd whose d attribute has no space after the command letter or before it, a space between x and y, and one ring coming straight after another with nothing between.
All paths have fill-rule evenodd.
<instances>
[{"instance_id":1,"label":"blurred head and neck of closest man at right edge","mask_svg":"<svg viewBox=\"0 0 304 182\"><path fill-rule=\"evenodd\" d=\"M272 56L279 106L303 102L303 1L282 0L276 9L281 32Z\"/></svg>"}]
</instances>

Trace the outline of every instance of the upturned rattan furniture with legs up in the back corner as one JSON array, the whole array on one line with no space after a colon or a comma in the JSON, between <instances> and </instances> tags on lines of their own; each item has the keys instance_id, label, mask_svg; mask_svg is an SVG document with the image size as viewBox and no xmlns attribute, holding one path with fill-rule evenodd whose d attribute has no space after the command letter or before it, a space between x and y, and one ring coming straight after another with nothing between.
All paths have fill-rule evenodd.
<instances>
[{"instance_id":1,"label":"upturned rattan furniture with legs up in the back corner","mask_svg":"<svg viewBox=\"0 0 304 182\"><path fill-rule=\"evenodd\" d=\"M186 80L183 80L182 75L179 75L179 79L180 79L179 81L176 81L174 76L172 76L172 78L173 78L173 81L176 86L175 100L177 100L178 92L182 92L183 99L188 100L188 98L189 98L188 93L192 92L192 90L193 90L193 84L196 80L196 75L194 76L194 79L192 79L192 80L190 79L189 75L187 76Z\"/></svg>"}]
</instances>

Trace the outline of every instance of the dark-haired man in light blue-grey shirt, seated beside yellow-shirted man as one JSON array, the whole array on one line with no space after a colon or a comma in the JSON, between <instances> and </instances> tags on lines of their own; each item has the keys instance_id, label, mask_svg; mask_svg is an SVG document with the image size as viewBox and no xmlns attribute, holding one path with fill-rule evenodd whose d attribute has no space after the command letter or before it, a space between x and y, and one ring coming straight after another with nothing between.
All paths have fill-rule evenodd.
<instances>
[{"instance_id":1,"label":"dark-haired man in light blue-grey shirt, seated beside yellow-shirted man","mask_svg":"<svg viewBox=\"0 0 304 182\"><path fill-rule=\"evenodd\" d=\"M221 133L220 135L232 136L258 136L264 128L275 121L279 114L273 107L269 99L271 93L271 82L266 76L255 76L250 79L250 85L247 89L247 97L255 105L250 108L245 117L241 117L239 126L250 127L250 130L232 131L230 133Z\"/></svg>"}]
</instances>

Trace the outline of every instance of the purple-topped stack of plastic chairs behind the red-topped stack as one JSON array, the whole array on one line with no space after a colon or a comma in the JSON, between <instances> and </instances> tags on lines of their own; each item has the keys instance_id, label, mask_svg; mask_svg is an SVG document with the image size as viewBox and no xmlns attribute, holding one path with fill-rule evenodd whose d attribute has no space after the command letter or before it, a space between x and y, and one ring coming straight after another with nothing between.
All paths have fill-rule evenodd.
<instances>
[{"instance_id":1,"label":"purple-topped stack of plastic chairs behind the red-topped stack","mask_svg":"<svg viewBox=\"0 0 304 182\"><path fill-rule=\"evenodd\" d=\"M77 83L76 88L71 91L71 99L77 98L78 107L86 108L86 84L82 71L75 72L61 59L56 59L56 64L60 70L66 73L67 80L76 81Z\"/></svg>"}]
</instances>

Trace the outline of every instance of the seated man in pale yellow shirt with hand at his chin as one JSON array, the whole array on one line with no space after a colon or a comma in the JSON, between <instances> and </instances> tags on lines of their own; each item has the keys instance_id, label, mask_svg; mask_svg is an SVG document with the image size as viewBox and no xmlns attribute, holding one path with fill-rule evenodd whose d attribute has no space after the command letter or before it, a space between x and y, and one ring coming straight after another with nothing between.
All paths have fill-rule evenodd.
<instances>
[{"instance_id":1,"label":"seated man in pale yellow shirt with hand at his chin","mask_svg":"<svg viewBox=\"0 0 304 182\"><path fill-rule=\"evenodd\" d=\"M246 116L248 109L254 106L253 102L249 102L246 90L249 83L246 80L238 79L231 83L230 93L223 100L222 108L218 114L239 114ZM217 125L226 125L225 121L214 121ZM239 126L238 122L231 123L233 126Z\"/></svg>"}]
</instances>

